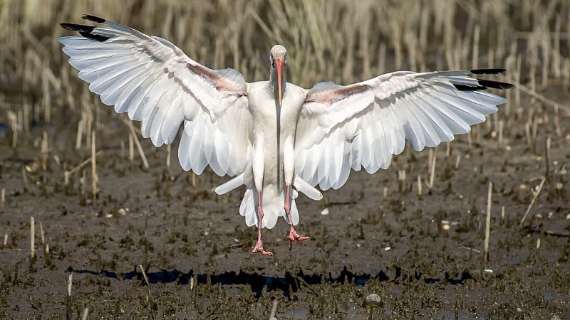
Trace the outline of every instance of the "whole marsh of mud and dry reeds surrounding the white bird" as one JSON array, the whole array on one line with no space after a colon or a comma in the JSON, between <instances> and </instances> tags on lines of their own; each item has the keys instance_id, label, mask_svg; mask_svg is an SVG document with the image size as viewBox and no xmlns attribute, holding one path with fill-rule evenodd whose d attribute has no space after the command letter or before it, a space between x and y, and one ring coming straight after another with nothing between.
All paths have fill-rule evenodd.
<instances>
[{"instance_id":1,"label":"whole marsh of mud and dry reeds surrounding the white bird","mask_svg":"<svg viewBox=\"0 0 570 320\"><path fill-rule=\"evenodd\" d=\"M83 14L248 81L282 43L303 87L466 68L515 87L470 134L303 205L316 241L260 261L241 195L212 198L76 77L58 23ZM0 43L0 317L366 318L369 294L380 318L569 316L569 1L5 0Z\"/></svg>"}]
</instances>

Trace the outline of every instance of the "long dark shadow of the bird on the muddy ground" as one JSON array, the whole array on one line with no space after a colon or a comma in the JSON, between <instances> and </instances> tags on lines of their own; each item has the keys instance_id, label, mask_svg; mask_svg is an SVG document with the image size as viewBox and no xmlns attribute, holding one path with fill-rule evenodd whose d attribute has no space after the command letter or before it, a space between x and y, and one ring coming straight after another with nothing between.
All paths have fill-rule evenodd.
<instances>
[{"instance_id":1,"label":"long dark shadow of the bird on the muddy ground","mask_svg":"<svg viewBox=\"0 0 570 320\"><path fill-rule=\"evenodd\" d=\"M239 272L229 271L222 272L219 274L213 273L196 273L194 270L189 272L182 272L180 270L158 270L155 272L145 272L147 275L148 282L150 284L178 284L178 285L189 285L191 279L194 278L197 285L217 285L222 286L227 285L245 285L249 286L254 292L256 298L261 297L262 292L278 291L281 292L284 297L291 299L291 293L298 292L301 287L306 287L310 292L317 294L314 286L318 284L351 284L354 286L363 286L366 282L375 280L378 282L398 282L398 283L412 283L415 281L423 281L426 284L436 284L439 282L446 282L449 284L462 284L468 279L474 279L473 275L465 270L460 274L450 275L445 272L442 279L437 277L425 277L421 272L403 272L401 267L393 266L394 270L390 270L390 276L386 274L383 270L380 270L377 274L370 273L359 273L348 271L347 267L338 274L338 277L333 277L331 272L327 275L325 274L305 274L301 268L299 272L285 272L284 277L272 276L268 277L264 274L259 274L257 272L245 272L244 270L239 270ZM93 274L95 276L103 276L112 279L119 280L133 280L143 282L144 278L140 270L135 267L131 272L112 272L109 270L73 270L69 267L68 272L75 272L79 274Z\"/></svg>"}]
</instances>

